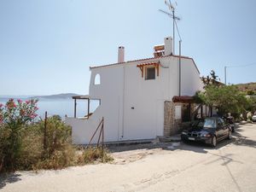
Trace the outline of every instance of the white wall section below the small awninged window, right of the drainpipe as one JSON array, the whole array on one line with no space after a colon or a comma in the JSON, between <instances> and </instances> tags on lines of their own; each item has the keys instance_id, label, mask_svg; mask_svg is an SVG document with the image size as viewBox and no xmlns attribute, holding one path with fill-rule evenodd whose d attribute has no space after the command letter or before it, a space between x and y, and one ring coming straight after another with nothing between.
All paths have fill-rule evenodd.
<instances>
[{"instance_id":1,"label":"white wall section below the small awninged window, right of the drainpipe","mask_svg":"<svg viewBox=\"0 0 256 192\"><path fill-rule=\"evenodd\" d=\"M141 63L137 61L125 66L125 140L148 139L163 134L163 104L158 104L164 103L168 96L168 71L160 68L156 79L145 80L137 67Z\"/></svg>"}]
</instances>

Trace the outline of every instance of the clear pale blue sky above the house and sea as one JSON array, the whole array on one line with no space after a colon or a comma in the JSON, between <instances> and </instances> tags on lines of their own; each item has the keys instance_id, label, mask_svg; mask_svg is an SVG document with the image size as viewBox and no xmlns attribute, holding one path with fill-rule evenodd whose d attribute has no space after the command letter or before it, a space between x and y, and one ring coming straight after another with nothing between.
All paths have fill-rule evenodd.
<instances>
[{"instance_id":1,"label":"clear pale blue sky above the house and sea","mask_svg":"<svg viewBox=\"0 0 256 192\"><path fill-rule=\"evenodd\" d=\"M87 94L90 66L153 56L172 35L164 0L0 1L0 95ZM177 0L183 55L231 84L256 81L256 1Z\"/></svg>"}]
</instances>

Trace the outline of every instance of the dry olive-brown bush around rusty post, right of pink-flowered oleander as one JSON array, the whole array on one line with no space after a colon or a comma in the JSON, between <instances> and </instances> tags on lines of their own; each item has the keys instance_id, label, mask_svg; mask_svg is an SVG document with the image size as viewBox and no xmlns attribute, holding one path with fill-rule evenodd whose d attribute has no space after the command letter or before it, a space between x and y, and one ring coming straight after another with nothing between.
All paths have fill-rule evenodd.
<instances>
[{"instance_id":1,"label":"dry olive-brown bush around rusty post, right of pink-flowered oleander","mask_svg":"<svg viewBox=\"0 0 256 192\"><path fill-rule=\"evenodd\" d=\"M61 169L75 162L75 148L72 145L71 127L61 117L54 115L47 119L44 135L44 120L38 123L42 136L41 160L33 169Z\"/></svg>"}]
</instances>

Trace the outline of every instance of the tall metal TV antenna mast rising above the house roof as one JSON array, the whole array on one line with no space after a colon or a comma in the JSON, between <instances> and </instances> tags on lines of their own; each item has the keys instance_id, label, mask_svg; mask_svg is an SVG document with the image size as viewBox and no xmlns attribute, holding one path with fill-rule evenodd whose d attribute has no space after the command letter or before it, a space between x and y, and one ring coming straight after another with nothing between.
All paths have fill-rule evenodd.
<instances>
[{"instance_id":1,"label":"tall metal TV antenna mast rising above the house roof","mask_svg":"<svg viewBox=\"0 0 256 192\"><path fill-rule=\"evenodd\" d=\"M175 55L175 26L177 27L177 22L176 20L180 20L179 17L175 16L175 9L177 6L177 3L175 2L175 6L171 3L171 0L169 0L167 2L167 0L165 0L165 4L166 6L168 7L168 9L170 10L170 13L166 12L165 10L162 10L162 9L159 9L160 12L162 12L163 14L166 14L168 15L169 17L172 18L172 43L173 43L173 55ZM178 36L180 38L180 42L181 42L181 37L180 37L180 34L178 32L178 28L177 28L177 33L178 33Z\"/></svg>"}]
</instances>

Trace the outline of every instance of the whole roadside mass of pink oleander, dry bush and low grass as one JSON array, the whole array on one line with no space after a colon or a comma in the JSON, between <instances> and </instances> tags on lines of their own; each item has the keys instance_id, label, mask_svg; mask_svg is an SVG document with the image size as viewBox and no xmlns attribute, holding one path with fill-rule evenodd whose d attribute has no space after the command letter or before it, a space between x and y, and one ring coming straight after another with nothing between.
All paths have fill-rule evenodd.
<instances>
[{"instance_id":1,"label":"whole roadside mass of pink oleander, dry bush and low grass","mask_svg":"<svg viewBox=\"0 0 256 192\"><path fill-rule=\"evenodd\" d=\"M76 148L71 127L54 115L37 119L37 100L0 104L0 172L61 169L112 160L106 149Z\"/></svg>"}]
</instances>

